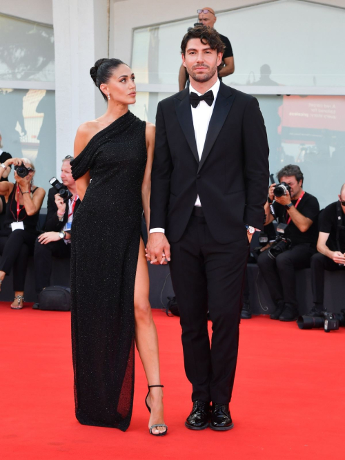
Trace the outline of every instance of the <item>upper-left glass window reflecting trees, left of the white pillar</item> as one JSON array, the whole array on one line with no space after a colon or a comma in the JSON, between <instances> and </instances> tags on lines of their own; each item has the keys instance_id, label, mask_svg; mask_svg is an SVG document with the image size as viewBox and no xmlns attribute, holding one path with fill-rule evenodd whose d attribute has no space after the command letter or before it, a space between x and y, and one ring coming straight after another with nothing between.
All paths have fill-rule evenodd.
<instances>
[{"instance_id":1,"label":"upper-left glass window reflecting trees, left of the white pillar","mask_svg":"<svg viewBox=\"0 0 345 460\"><path fill-rule=\"evenodd\" d=\"M0 15L0 80L55 81L51 26Z\"/></svg>"}]
</instances>

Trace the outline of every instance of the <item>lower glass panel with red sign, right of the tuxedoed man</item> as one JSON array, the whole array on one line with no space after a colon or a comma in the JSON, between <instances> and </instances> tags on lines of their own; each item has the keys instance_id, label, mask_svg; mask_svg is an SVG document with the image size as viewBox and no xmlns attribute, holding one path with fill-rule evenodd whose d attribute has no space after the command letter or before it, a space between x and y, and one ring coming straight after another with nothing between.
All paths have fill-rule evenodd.
<instances>
[{"instance_id":1,"label":"lower glass panel with red sign, right of the tuxedoed man","mask_svg":"<svg viewBox=\"0 0 345 460\"><path fill-rule=\"evenodd\" d=\"M298 164L320 207L345 182L344 96L259 96L270 145L270 172Z\"/></svg>"}]
</instances>

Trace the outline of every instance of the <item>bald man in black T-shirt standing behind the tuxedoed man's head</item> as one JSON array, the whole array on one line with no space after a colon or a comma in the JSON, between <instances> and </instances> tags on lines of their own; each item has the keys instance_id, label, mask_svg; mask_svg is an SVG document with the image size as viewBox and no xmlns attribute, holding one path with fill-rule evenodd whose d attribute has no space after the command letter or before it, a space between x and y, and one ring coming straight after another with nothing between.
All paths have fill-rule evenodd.
<instances>
[{"instance_id":1,"label":"bald man in black T-shirt standing behind the tuxedoed man's head","mask_svg":"<svg viewBox=\"0 0 345 460\"><path fill-rule=\"evenodd\" d=\"M213 28L215 26L215 22L217 21L217 17L215 15L215 10L206 6L205 8L200 8L197 10L198 14L198 22L203 24L204 26L208 26ZM219 32L218 32L219 33ZM226 77L234 73L235 71L235 64L234 64L234 55L233 55L233 48L231 47L230 41L228 37L219 34L221 41L225 45L225 51L223 55L223 61L218 68L218 77ZM183 90L186 86L186 82L188 79L188 73L186 73L186 68L184 65L181 64L179 69L179 90Z\"/></svg>"}]
</instances>

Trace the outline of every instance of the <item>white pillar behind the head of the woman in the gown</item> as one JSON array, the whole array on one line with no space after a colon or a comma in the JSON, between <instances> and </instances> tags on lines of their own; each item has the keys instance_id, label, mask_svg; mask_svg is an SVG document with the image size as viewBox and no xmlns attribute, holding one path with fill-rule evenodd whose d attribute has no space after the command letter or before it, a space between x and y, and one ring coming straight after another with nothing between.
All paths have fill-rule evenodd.
<instances>
[{"instance_id":1,"label":"white pillar behind the head of the woman in the gown","mask_svg":"<svg viewBox=\"0 0 345 460\"><path fill-rule=\"evenodd\" d=\"M57 170L73 154L78 126L106 105L90 77L99 57L108 55L108 0L53 0Z\"/></svg>"}]
</instances>

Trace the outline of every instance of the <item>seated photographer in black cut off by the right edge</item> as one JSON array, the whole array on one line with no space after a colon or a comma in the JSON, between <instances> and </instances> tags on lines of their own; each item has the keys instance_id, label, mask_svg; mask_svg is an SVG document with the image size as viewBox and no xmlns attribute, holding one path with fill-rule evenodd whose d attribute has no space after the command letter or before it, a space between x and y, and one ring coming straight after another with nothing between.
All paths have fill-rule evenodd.
<instances>
[{"instance_id":1,"label":"seated photographer in black cut off by the right edge","mask_svg":"<svg viewBox=\"0 0 345 460\"><path fill-rule=\"evenodd\" d=\"M314 307L308 316L318 316L324 308L324 271L345 270L345 184L339 200L328 204L321 216L317 251L311 258Z\"/></svg>"}]
</instances>

